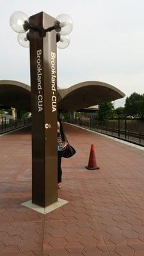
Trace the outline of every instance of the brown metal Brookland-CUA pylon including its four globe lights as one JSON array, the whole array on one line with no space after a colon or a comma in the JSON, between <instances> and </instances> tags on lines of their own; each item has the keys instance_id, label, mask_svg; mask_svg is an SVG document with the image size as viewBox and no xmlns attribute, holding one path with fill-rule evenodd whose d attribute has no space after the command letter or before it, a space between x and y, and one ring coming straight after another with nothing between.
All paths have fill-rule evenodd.
<instances>
[{"instance_id":1,"label":"brown metal Brookland-CUA pylon including its four globe lights","mask_svg":"<svg viewBox=\"0 0 144 256\"><path fill-rule=\"evenodd\" d=\"M19 43L30 45L32 202L47 207L58 201L56 42L61 49L68 46L72 21L68 15L54 19L40 12L28 18L15 12L10 25Z\"/></svg>"}]
</instances>

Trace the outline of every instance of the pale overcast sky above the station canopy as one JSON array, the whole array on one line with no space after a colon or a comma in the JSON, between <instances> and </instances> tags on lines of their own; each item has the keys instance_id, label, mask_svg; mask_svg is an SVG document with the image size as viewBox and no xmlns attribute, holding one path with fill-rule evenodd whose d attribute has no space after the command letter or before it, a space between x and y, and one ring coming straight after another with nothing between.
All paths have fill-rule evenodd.
<instances>
[{"instance_id":1,"label":"pale overcast sky above the station canopy","mask_svg":"<svg viewBox=\"0 0 144 256\"><path fill-rule=\"evenodd\" d=\"M67 13L74 21L67 49L58 49L58 86L109 83L125 93L144 93L144 0L4 0L1 3L0 79L30 85L29 48L17 42L10 16ZM115 100L115 108L125 100Z\"/></svg>"}]
</instances>

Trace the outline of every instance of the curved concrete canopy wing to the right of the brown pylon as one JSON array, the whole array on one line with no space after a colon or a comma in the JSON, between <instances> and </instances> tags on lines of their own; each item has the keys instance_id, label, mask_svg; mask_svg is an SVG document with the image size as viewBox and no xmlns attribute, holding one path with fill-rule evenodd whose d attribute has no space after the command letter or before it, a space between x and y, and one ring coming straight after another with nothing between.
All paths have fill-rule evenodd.
<instances>
[{"instance_id":1,"label":"curved concrete canopy wing to the right of the brown pylon","mask_svg":"<svg viewBox=\"0 0 144 256\"><path fill-rule=\"evenodd\" d=\"M86 81L70 88L59 90L61 99L58 103L60 109L73 111L123 98L125 94L111 84L99 81Z\"/></svg>"}]
</instances>

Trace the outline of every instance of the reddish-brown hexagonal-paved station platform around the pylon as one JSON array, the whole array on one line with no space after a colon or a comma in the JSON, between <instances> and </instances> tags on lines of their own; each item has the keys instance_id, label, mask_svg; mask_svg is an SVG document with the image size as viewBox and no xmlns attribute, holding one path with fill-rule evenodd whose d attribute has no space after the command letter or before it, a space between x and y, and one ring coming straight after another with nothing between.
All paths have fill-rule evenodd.
<instances>
[{"instance_id":1,"label":"reddish-brown hexagonal-paved station platform around the pylon","mask_svg":"<svg viewBox=\"0 0 144 256\"><path fill-rule=\"evenodd\" d=\"M77 154L63 159L58 196L40 214L31 200L31 132L0 138L0 256L143 256L144 151L65 125ZM86 170L91 144L100 170Z\"/></svg>"}]
</instances>

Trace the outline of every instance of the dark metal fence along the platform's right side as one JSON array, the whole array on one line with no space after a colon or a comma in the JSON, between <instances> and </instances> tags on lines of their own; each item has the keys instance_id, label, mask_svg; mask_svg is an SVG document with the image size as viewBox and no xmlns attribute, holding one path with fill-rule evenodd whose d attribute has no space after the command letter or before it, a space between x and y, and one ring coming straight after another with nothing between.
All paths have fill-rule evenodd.
<instances>
[{"instance_id":1,"label":"dark metal fence along the platform's right side","mask_svg":"<svg viewBox=\"0 0 144 256\"><path fill-rule=\"evenodd\" d=\"M139 120L127 120L127 118L121 120L118 118L118 120L100 121L95 116L89 115L89 117L71 119L69 122L144 146L144 122Z\"/></svg>"}]
</instances>

